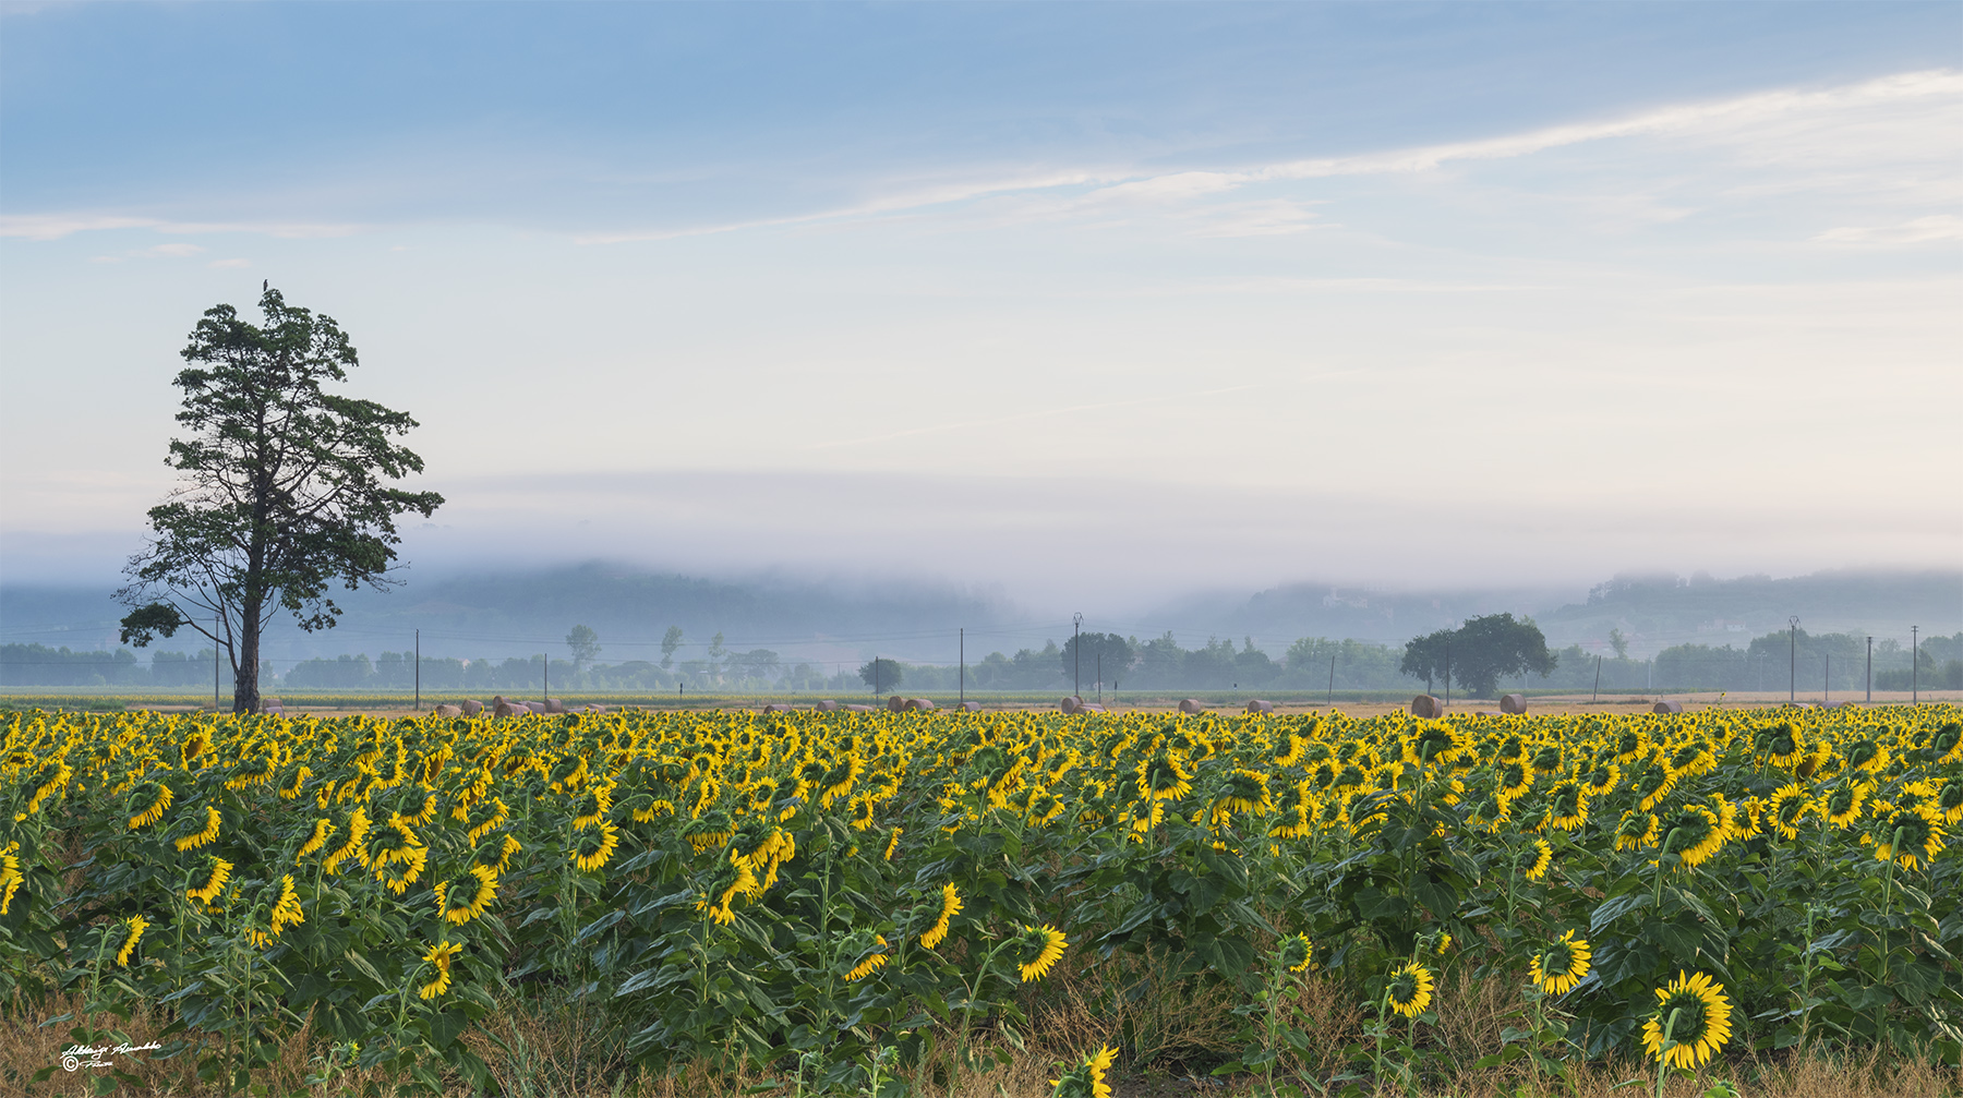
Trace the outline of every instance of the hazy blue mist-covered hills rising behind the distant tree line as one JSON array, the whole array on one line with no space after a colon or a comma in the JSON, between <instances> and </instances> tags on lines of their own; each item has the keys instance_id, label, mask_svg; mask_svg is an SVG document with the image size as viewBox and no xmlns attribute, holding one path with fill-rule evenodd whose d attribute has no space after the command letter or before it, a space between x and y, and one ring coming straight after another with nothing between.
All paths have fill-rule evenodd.
<instances>
[{"instance_id":1,"label":"hazy blue mist-covered hills rising behind the distant tree line","mask_svg":"<svg viewBox=\"0 0 1963 1098\"><path fill-rule=\"evenodd\" d=\"M603 664L656 662L679 629L677 662L768 650L826 676L872 656L911 664L970 666L989 652L1042 650L1070 638L1070 609L1027 607L993 589L954 583L813 579L783 574L701 577L591 562L565 568L410 574L391 591L340 591L340 627L306 634L277 621L267 634L271 670L302 660L410 652L424 658L530 660L567 656L575 625L599 636ZM1093 609L1093 607L1091 607ZM1135 615L1086 615L1084 629L1141 640L1172 634L1186 648L1231 640L1280 660L1300 638L1402 646L1468 617L1512 611L1533 617L1555 648L1610 652L1619 631L1631 658L1678 644L1743 646L1798 617L1812 634L1857 632L1908 644L1963 629L1963 572L1820 572L1773 579L1747 576L1618 576L1588 591L1559 587L1382 589L1290 583L1247 593L1199 593ZM0 642L116 650L122 609L104 587L0 585ZM962 632L966 631L966 648ZM716 644L720 638L720 644ZM157 652L208 648L181 632ZM149 652L135 652L147 664ZM206 656L208 660L208 656Z\"/></svg>"}]
</instances>

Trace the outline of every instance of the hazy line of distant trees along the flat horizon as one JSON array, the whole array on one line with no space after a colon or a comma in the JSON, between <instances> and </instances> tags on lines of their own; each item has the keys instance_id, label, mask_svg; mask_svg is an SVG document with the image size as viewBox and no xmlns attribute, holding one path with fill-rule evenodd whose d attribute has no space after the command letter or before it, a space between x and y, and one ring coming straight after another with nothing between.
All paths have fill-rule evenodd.
<instances>
[{"instance_id":1,"label":"hazy line of distant trees along the flat horizon","mask_svg":"<svg viewBox=\"0 0 1963 1098\"><path fill-rule=\"evenodd\" d=\"M1478 621L1478 619L1474 619ZM591 631L587 631L591 634ZM1443 642L1439 631L1413 638L1404 648L1360 640L1331 640L1303 636L1280 658L1260 650L1252 638L1239 644L1209 638L1195 648L1184 648L1168 631L1152 640L1115 632L1086 632L1062 644L1021 648L1015 654L989 652L968 664L966 689L972 691L1058 691L1068 693L1076 682L1084 691L1099 686L1111 691L1166 689L1409 689L1425 684L1423 666L1411 664L1413 646L1419 662L1437 658L1431 666L1431 689L1445 691ZM554 658L550 680L554 691L662 691L677 687L699 691L834 691L872 693L872 662L819 664L785 660L768 648L720 652L705 660L663 662L624 660L603 664L599 638L593 648L571 646L571 658ZM1580 644L1549 652L1553 670L1527 670L1512 678L1494 676L1488 689L1468 684L1464 672L1470 650L1455 650L1453 691L1484 697L1504 689L1590 689L1596 682L1596 656ZM716 646L720 648L720 646ZM715 648L713 648L715 650ZM1335 674L1331 678L1331 658ZM1082 660L1082 662L1074 662ZM1099 662L1101 660L1101 662ZM1415 674L1406 670L1415 666ZM124 686L163 689L208 689L212 686L214 652L153 652L139 662L130 648L69 650L43 644L0 644L0 686ZM546 658L422 658L422 689L430 693L483 691L526 693L546 684ZM958 666L881 660L879 691L891 693L952 693L962 687ZM1099 680L1099 670L1103 678ZM232 668L218 660L220 689L232 687ZM1074 678L1082 674L1082 680ZM1828 676L1831 674L1831 680ZM1604 691L1680 689L1680 691L1777 691L1796 680L1802 693L1818 693L1826 684L1837 693L1863 689L1867 676L1867 642L1851 632L1808 634L1804 631L1769 632L1743 648L1676 644L1651 660L1604 656L1600 686ZM1910 674L1908 646L1898 640L1875 642L1875 689L1963 689L1963 632L1955 636L1926 636L1920 648L1920 670ZM273 662L261 664L261 682L277 689L377 689L408 691L416 684L416 664L410 652L342 654L334 658L300 660L283 672Z\"/></svg>"}]
</instances>

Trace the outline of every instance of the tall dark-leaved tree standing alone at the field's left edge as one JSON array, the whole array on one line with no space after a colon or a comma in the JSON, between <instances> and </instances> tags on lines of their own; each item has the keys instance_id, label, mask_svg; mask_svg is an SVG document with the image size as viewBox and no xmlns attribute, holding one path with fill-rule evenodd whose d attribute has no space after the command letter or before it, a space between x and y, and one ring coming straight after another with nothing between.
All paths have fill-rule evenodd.
<instances>
[{"instance_id":1,"label":"tall dark-leaved tree standing alone at the field's left edge","mask_svg":"<svg viewBox=\"0 0 1963 1098\"><path fill-rule=\"evenodd\" d=\"M183 483L149 509L149 544L116 591L130 607L126 644L188 627L226 654L234 713L259 709L271 617L285 609L308 632L332 629L342 609L328 589L393 587L397 515L430 517L444 503L389 485L422 471L422 458L391 442L416 426L408 412L324 389L357 365L340 326L275 289L259 310L263 328L220 304L190 332L173 381L190 438L173 438L165 456Z\"/></svg>"}]
</instances>

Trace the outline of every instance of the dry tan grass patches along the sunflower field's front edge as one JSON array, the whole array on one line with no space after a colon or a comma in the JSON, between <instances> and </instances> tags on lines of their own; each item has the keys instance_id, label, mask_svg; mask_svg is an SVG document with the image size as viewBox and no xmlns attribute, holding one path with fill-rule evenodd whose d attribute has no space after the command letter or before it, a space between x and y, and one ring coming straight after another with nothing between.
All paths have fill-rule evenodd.
<instances>
[{"instance_id":1,"label":"dry tan grass patches along the sunflower field's front edge","mask_svg":"<svg viewBox=\"0 0 1963 1098\"><path fill-rule=\"evenodd\" d=\"M928 1063L903 1071L913 1094L1038 1098L1050 1092L1048 1078L1056 1074L1058 1061L1113 1045L1125 1053L1113 1072L1119 1098L1188 1096L1201 1090L1184 1076L1205 1076L1213 1063L1233 1055L1239 1019L1227 1012L1229 992L1201 980L1172 978L1170 966L1156 955L1101 961L1097 976L1058 964L1048 980L1029 992L1023 1047L1003 1043L999 1031L983 1031L976 1049L982 1057L1007 1049L1009 1065L964 1071L956 1065L952 1035L942 1033ZM1311 1078L1327 1078L1343 1065L1343 1049L1362 1041L1362 1010L1356 996L1329 976L1301 980L1292 996L1286 1006L1303 1012L1305 1021L1298 1025L1305 1027L1313 1047L1307 1063L1288 1067L1305 1071ZM37 1010L24 1010L16 1002L0 1014L0 1096L27 1094L24 1080L57 1063L71 1043L67 1031L73 1023L43 1027L33 1019L77 1006L75 998L61 996ZM1472 980L1464 972L1441 982L1441 1025L1429 1029L1435 1053L1431 1063L1457 1067L1451 1074L1429 1080L1427 1098L1631 1098L1653 1092L1655 1076L1639 1063L1576 1065L1563 1078L1543 1080L1533 1080L1519 1063L1506 1071L1470 1069L1480 1055L1498 1047L1498 1033L1506 1023L1502 1016L1510 1006L1510 996L1498 982ZM108 1021L112 1019L98 1017L98 1023ZM161 1012L139 1010L122 1029L132 1043L151 1041L163 1029ZM487 1019L483 1031L467 1035L467 1041L491 1067L499 1090L514 1098L738 1098L791 1092L789 1086L768 1088L785 1076L758 1069L716 1071L695 1063L675 1074L632 1071L618 1041L575 1010L508 1004ZM326 1043L302 1029L281 1045L273 1071L257 1072L253 1082L271 1084L269 1094L283 1098L338 1098L371 1082L387 1092L389 1082L381 1072L344 1072L334 1084L308 1084L306 1076L318 1071L318 1059L326 1053ZM118 1067L141 1080L118 1094L212 1094L210 1084L198 1082L192 1061L188 1055L171 1061L116 1057ZM90 1074L102 1072L80 1069L67 1074L57 1069L55 1078L31 1092L82 1094L82 1078ZM1639 1082L1618 1086L1627 1080ZM1718 1080L1731 1082L1745 1098L1963 1096L1963 1071L1957 1067L1881 1061L1873 1053L1853 1061L1733 1057L1712 1065L1698 1080L1672 1080L1665 1092L1672 1098L1698 1098ZM1247 1076L1213 1092L1247 1098L1260 1094L1258 1082ZM453 1078L446 1096L465 1098L469 1088Z\"/></svg>"}]
</instances>

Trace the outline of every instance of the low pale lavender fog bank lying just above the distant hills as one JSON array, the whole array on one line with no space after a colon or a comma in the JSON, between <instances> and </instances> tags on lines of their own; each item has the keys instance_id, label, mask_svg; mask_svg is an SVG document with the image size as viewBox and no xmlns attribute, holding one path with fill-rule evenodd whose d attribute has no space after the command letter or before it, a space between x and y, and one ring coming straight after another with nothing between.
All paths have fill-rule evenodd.
<instances>
[{"instance_id":1,"label":"low pale lavender fog bank lying just above the distant hills","mask_svg":"<svg viewBox=\"0 0 1963 1098\"><path fill-rule=\"evenodd\" d=\"M887 471L424 481L448 503L432 522L404 528L416 581L589 560L716 579L901 576L982 583L1038 619L1082 611L1107 623L1144 623L1192 591L1245 599L1307 577L1500 591L1490 605L1515 609L1582 599L1631 568L1804 576L1849 562L1951 566L1963 554L1963 513L1953 509L1835 501L1822 521L1751 501L1712 509L1533 487L1480 489L1478 501L1427 485L1366 497L1343 491L1335 467L1323 489ZM141 546L139 515L132 503L124 530L37 532L14 511L0 524L0 583L114 587Z\"/></svg>"}]
</instances>

